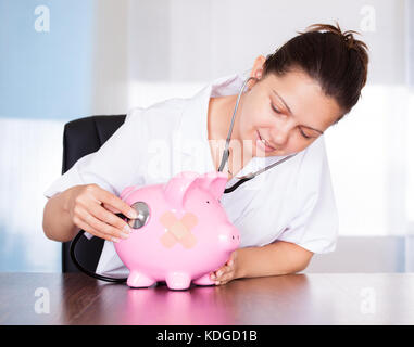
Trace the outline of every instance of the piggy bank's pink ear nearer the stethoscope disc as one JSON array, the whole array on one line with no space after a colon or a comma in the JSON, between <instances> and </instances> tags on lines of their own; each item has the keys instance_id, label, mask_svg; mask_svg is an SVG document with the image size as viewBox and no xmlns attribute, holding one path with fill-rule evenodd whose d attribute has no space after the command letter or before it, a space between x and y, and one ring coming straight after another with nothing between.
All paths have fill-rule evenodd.
<instances>
[{"instance_id":1,"label":"piggy bank's pink ear nearer the stethoscope disc","mask_svg":"<svg viewBox=\"0 0 414 347\"><path fill-rule=\"evenodd\" d=\"M184 171L174 176L164 185L164 196L170 204L184 208L184 196L190 185L199 178L200 175L192 171Z\"/></svg>"}]
</instances>

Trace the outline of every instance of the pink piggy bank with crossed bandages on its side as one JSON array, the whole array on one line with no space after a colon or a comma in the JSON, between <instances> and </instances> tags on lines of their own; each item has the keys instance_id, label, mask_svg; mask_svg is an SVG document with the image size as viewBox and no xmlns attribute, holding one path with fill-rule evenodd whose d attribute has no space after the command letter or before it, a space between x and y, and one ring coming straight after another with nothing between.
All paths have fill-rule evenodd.
<instances>
[{"instance_id":1,"label":"pink piggy bank with crossed bandages on its side","mask_svg":"<svg viewBox=\"0 0 414 347\"><path fill-rule=\"evenodd\" d=\"M210 272L221 268L240 244L238 230L221 205L227 175L185 171L163 184L127 187L121 198L138 219L128 221L130 236L114 243L129 269L130 287L165 281L187 290L191 281L212 285Z\"/></svg>"}]
</instances>

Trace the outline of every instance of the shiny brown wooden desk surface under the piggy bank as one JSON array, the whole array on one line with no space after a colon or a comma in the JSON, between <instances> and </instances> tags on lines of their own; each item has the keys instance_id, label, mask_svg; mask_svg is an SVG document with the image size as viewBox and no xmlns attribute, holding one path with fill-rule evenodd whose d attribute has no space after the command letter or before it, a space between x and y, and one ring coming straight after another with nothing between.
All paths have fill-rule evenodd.
<instances>
[{"instance_id":1,"label":"shiny brown wooden desk surface under the piggy bank","mask_svg":"<svg viewBox=\"0 0 414 347\"><path fill-rule=\"evenodd\" d=\"M414 324L414 273L291 274L179 292L0 273L0 324Z\"/></svg>"}]
</instances>

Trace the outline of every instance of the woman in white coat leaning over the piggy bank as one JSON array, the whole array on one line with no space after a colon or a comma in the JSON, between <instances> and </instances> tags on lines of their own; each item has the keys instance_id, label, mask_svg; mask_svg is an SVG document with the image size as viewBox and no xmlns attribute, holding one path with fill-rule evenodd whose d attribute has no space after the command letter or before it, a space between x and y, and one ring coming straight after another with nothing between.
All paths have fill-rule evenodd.
<instances>
[{"instance_id":1,"label":"woman in white coat leaning over the piggy bank","mask_svg":"<svg viewBox=\"0 0 414 347\"><path fill-rule=\"evenodd\" d=\"M338 217L323 133L351 111L366 82L367 47L352 33L312 25L274 54L259 56L249 75L217 79L190 99L131 110L98 152L45 192L45 234L65 242L83 229L88 237L103 237L97 273L125 272L112 242L128 237L129 228L114 213L134 218L135 211L117 197L121 191L183 170L217 170L238 92L252 77L231 131L228 188L237 177L297 155L223 195L241 243L211 279L218 285L292 273L305 269L314 253L333 252ZM164 141L162 157L154 139Z\"/></svg>"}]
</instances>

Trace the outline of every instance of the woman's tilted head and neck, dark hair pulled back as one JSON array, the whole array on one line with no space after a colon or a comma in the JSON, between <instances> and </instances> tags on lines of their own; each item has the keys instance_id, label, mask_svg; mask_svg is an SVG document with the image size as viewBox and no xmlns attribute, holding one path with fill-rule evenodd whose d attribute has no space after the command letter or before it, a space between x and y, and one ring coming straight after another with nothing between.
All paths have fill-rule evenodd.
<instances>
[{"instance_id":1,"label":"woman's tilted head and neck, dark hair pulled back","mask_svg":"<svg viewBox=\"0 0 414 347\"><path fill-rule=\"evenodd\" d=\"M351 111L366 83L368 64L367 47L353 33L342 33L338 24L314 24L275 53L256 57L234 126L230 172L261 153L304 150ZM211 99L217 138L225 137L236 97Z\"/></svg>"}]
</instances>

